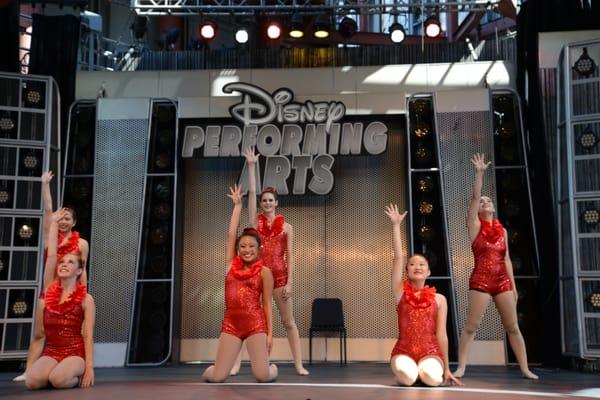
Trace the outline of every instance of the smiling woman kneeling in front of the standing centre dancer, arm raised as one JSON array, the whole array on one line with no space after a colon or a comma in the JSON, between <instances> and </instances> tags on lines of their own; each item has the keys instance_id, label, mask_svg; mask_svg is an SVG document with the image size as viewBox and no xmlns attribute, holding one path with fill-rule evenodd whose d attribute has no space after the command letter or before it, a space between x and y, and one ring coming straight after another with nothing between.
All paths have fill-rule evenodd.
<instances>
[{"instance_id":1,"label":"smiling woman kneeling in front of the standing centre dancer, arm raised","mask_svg":"<svg viewBox=\"0 0 600 400\"><path fill-rule=\"evenodd\" d=\"M277 378L277 367L269 365L273 274L259 258L260 238L255 229L245 229L236 240L242 212L240 188L236 185L228 196L233 201L233 212L227 233L230 268L225 279L225 318L215 364L202 377L209 382L225 381L245 340L256 380L270 382Z\"/></svg>"}]
</instances>

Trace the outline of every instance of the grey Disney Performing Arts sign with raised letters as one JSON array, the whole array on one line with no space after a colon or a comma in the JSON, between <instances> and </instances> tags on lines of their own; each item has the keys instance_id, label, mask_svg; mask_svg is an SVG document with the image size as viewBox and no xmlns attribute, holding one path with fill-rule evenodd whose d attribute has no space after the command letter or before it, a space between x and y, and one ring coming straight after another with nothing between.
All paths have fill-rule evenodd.
<instances>
[{"instance_id":1,"label":"grey Disney Performing Arts sign with raised letters","mask_svg":"<svg viewBox=\"0 0 600 400\"><path fill-rule=\"evenodd\" d=\"M265 156L263 187L290 193L288 178L294 173L291 193L306 189L324 195L333 189L331 167L337 155L381 154L387 148L388 128L383 122L341 122L346 106L339 101L294 102L290 89L273 94L248 83L229 83L223 92L239 92L241 102L229 108L239 125L188 125L181 156L191 158L202 148L203 157L239 157L256 147ZM198 151L200 152L200 150ZM246 182L246 166L240 177ZM309 179L310 178L310 179ZM259 187L260 187L260 180Z\"/></svg>"}]
</instances>

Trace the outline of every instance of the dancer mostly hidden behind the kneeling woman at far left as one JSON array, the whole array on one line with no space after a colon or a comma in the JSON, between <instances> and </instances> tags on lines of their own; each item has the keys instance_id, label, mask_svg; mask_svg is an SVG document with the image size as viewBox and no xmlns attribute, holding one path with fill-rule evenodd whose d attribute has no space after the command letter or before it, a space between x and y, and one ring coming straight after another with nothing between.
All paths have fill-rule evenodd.
<instances>
[{"instance_id":1,"label":"dancer mostly hidden behind the kneeling woman at far left","mask_svg":"<svg viewBox=\"0 0 600 400\"><path fill-rule=\"evenodd\" d=\"M52 194L50 193L50 182L54 175L52 171L46 171L42 174L42 194L44 199L44 242L48 243L48 233L52 221ZM79 277L79 281L84 285L87 284L86 265L89 253L88 242L79 236L79 232L74 231L73 227L76 224L75 211L71 208L65 208L64 217L58 221L58 250L57 257L61 258L68 253L79 255L82 263L83 272ZM46 259L46 250L44 250L44 264ZM44 289L40 291L40 298L44 295ZM36 326L34 336L29 344L27 351L27 364L25 372L17 376L13 380L15 382L25 381L27 370L40 357L42 348L44 347L44 336L41 326Z\"/></svg>"}]
</instances>

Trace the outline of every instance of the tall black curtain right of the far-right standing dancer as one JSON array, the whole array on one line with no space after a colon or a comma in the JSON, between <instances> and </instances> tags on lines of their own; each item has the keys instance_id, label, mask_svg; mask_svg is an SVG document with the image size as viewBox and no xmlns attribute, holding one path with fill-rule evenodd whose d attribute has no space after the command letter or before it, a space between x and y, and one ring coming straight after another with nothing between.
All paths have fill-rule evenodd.
<instances>
[{"instance_id":1,"label":"tall black curtain right of the far-right standing dancer","mask_svg":"<svg viewBox=\"0 0 600 400\"><path fill-rule=\"evenodd\" d=\"M529 135L529 172L536 233L540 250L540 293L544 335L541 348L544 364L564 364L561 354L558 246L555 242L547 143L544 135L538 34L540 32L600 29L600 0L529 0L517 16L517 89L522 99L528 93L524 120ZM527 77L527 79L525 79Z\"/></svg>"}]
</instances>

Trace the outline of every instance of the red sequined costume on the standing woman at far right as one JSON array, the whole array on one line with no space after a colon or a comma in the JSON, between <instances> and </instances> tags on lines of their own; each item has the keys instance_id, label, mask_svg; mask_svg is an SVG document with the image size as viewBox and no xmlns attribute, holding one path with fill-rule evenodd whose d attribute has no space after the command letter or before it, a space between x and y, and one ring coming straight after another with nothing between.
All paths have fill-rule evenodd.
<instances>
[{"instance_id":1,"label":"red sequined costume on the standing woman at far right","mask_svg":"<svg viewBox=\"0 0 600 400\"><path fill-rule=\"evenodd\" d=\"M491 296L512 290L506 271L506 240L502 224L494 218L492 223L483 219L481 229L471 244L475 268L469 279L469 289Z\"/></svg>"}]
</instances>

